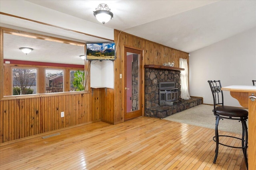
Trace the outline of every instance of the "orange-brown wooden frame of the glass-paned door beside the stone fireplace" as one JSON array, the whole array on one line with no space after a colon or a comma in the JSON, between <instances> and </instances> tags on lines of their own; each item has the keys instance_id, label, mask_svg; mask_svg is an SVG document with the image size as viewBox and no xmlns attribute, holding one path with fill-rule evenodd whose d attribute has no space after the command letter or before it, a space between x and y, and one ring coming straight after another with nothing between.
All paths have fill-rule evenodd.
<instances>
[{"instance_id":1,"label":"orange-brown wooden frame of the glass-paned door beside the stone fireplace","mask_svg":"<svg viewBox=\"0 0 256 170\"><path fill-rule=\"evenodd\" d=\"M126 112L126 90L124 89L125 86L126 86L126 54L127 52L130 52L130 53L135 53L135 54L140 54L139 55L139 58L138 58L138 61L139 61L139 71L140 71L140 86L139 86L139 91L140 91L140 94L138 96L138 98L140 98L140 102L139 102L139 105L140 105L140 109L138 109L138 111L134 111L133 113L132 112L129 112L129 114L127 114ZM140 117L140 116L143 116L144 115L144 69L142 68L142 65L143 65L143 55L144 55L144 50L143 49L138 49L138 48L135 48L135 47L130 47L130 46L124 46L124 70L123 70L123 88L122 88L122 91L124 94L124 105L123 105L123 115L124 115L124 121L127 121L127 120L130 120L130 119L134 119L136 117Z\"/></svg>"}]
</instances>

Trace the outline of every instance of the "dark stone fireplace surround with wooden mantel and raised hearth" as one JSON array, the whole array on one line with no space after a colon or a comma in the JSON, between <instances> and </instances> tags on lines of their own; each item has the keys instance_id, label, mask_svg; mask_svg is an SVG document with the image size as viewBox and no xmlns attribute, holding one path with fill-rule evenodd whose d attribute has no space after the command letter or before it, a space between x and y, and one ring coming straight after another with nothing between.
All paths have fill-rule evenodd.
<instances>
[{"instance_id":1,"label":"dark stone fireplace surround with wooden mantel and raised hearth","mask_svg":"<svg viewBox=\"0 0 256 170\"><path fill-rule=\"evenodd\" d=\"M175 82L180 98L180 71L183 68L145 65L145 116L164 118L202 104L201 98L182 100L174 106L159 106L159 82Z\"/></svg>"}]
</instances>

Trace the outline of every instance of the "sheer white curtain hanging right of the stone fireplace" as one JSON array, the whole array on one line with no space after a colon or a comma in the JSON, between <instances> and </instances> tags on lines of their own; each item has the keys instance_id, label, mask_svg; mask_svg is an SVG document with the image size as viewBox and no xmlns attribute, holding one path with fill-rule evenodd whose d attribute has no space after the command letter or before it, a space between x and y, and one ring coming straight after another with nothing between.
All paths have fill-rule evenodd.
<instances>
[{"instance_id":1,"label":"sheer white curtain hanging right of the stone fireplace","mask_svg":"<svg viewBox=\"0 0 256 170\"><path fill-rule=\"evenodd\" d=\"M185 70L180 71L180 91L181 98L184 100L190 99L188 93L188 63L187 59L180 59L180 68L184 68Z\"/></svg>"}]
</instances>

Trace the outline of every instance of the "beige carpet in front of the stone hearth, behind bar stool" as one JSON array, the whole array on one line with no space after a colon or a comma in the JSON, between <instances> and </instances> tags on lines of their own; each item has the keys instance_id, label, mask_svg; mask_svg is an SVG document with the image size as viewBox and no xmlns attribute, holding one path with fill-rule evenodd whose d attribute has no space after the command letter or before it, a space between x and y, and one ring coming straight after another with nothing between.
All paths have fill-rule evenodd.
<instances>
[{"instance_id":1,"label":"beige carpet in front of the stone hearth, behind bar stool","mask_svg":"<svg viewBox=\"0 0 256 170\"><path fill-rule=\"evenodd\" d=\"M213 106L211 105L200 104L165 117L164 119L215 129L215 116L213 115L212 109ZM248 126L248 121L246 123ZM236 120L224 119L220 120L218 129L220 131L242 134L242 123Z\"/></svg>"}]
</instances>

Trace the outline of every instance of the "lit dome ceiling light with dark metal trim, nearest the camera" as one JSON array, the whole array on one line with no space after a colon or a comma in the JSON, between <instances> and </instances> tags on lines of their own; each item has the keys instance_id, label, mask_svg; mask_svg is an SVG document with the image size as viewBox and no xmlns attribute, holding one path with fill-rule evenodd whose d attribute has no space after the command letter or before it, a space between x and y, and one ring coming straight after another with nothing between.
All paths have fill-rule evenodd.
<instances>
[{"instance_id":1,"label":"lit dome ceiling light with dark metal trim, nearest the camera","mask_svg":"<svg viewBox=\"0 0 256 170\"><path fill-rule=\"evenodd\" d=\"M110 12L107 4L99 4L96 11L93 12L94 16L98 21L105 24L113 18L113 13Z\"/></svg>"}]
</instances>

